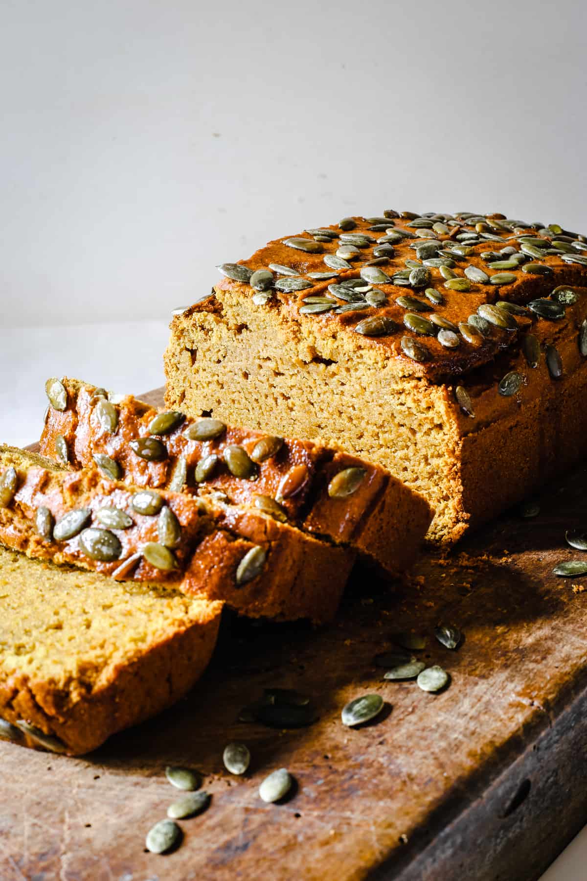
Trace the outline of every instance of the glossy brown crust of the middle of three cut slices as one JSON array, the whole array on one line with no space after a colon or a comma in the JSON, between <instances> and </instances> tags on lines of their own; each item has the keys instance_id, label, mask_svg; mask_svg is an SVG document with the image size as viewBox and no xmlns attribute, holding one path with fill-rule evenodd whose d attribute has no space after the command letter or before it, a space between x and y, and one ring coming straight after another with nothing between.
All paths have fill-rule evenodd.
<instances>
[{"instance_id":1,"label":"glossy brown crust of the middle of three cut slices","mask_svg":"<svg viewBox=\"0 0 587 881\"><path fill-rule=\"evenodd\" d=\"M54 470L50 461L45 461L47 467L42 464L40 456L0 447L0 475L14 467L18 476L13 500L0 508L0 542L6 546L29 557L74 563L114 577L126 560L138 558L121 575L125 581L157 581L191 596L222 599L253 617L311 618L315 622L334 617L355 559L349 549L319 541L259 512L214 504L211 497L204 502L186 493L159 491L181 529L172 550L177 566L165 571L143 556L147 543L160 541L159 521L158 515L137 513L132 503L136 488L107 480L96 469ZM115 559L91 559L84 552L83 531L62 541L40 537L35 529L40 507L48 508L55 522L71 510L84 508L91 513L84 528L103 528L97 512L115 507L132 524L109 530L121 544ZM251 581L239 581L239 566L255 548L264 553L264 565ZM320 578L324 588L318 587Z\"/></svg>"}]
</instances>

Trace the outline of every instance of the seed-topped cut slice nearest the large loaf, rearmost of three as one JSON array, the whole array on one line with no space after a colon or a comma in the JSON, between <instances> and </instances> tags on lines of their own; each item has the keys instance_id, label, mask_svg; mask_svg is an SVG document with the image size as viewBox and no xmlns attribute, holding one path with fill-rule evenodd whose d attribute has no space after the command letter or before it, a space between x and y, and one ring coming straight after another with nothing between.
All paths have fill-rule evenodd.
<instances>
[{"instance_id":1,"label":"seed-topped cut slice nearest the large loaf, rearmost of three","mask_svg":"<svg viewBox=\"0 0 587 881\"><path fill-rule=\"evenodd\" d=\"M167 417L149 404L132 396L113 403L104 389L77 380L48 381L48 390L57 406L48 409L40 449L61 455L72 468L107 456L106 465L135 485L201 496L220 490L241 507L270 511L392 574L410 565L429 527L432 512L422 496L338 448L185 419L179 412L169 414L168 427ZM197 440L203 435L206 440ZM151 449L137 455L137 441Z\"/></svg>"}]
</instances>

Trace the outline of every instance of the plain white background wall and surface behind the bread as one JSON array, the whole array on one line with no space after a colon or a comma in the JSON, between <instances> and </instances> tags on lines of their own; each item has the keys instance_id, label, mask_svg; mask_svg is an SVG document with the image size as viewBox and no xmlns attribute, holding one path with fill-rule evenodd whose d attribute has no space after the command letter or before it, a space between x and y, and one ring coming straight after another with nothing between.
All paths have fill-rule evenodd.
<instances>
[{"instance_id":1,"label":"plain white background wall and surface behind the bread","mask_svg":"<svg viewBox=\"0 0 587 881\"><path fill-rule=\"evenodd\" d=\"M385 208L587 232L586 26L584 0L4 0L0 438L38 435L48 374L161 384L172 307L277 235Z\"/></svg>"}]
</instances>

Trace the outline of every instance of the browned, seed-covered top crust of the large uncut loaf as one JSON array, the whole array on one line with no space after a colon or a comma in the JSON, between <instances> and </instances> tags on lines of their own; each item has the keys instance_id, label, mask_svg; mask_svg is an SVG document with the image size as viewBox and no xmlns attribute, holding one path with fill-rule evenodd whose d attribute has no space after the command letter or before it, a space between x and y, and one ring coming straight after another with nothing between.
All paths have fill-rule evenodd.
<instances>
[{"instance_id":1,"label":"browned, seed-covered top crust of the large uncut loaf","mask_svg":"<svg viewBox=\"0 0 587 881\"><path fill-rule=\"evenodd\" d=\"M349 245L356 253L343 257L342 263L339 256L341 268L330 269L328 263L332 264L333 258L336 262L337 250ZM382 246L383 251L378 250ZM312 253L305 248L311 248ZM437 265L439 261L444 266ZM280 266L289 268L290 274ZM488 364L500 351L518 351L520 330L547 338L554 323L557 332L567 329L577 341L583 333L583 355L587 353L587 326L577 314L573 292L568 292L569 286L587 285L587 241L556 224L529 224L503 214L466 211L454 215L385 211L382 218L345 218L341 225L276 239L250 259L224 263L218 269L230 278L224 278L217 290L255 297L260 308L282 310L302 326L311 323L312 333L318 336L332 337L343 329L354 335L354 344L360 341L358 344L367 347L383 347L406 375L425 376L434 382L457 379ZM253 278L252 286L246 279L250 282L251 272L256 270L268 270L273 279L260 278L255 286ZM444 278L441 270L454 278ZM369 273L373 271L384 275L371 281ZM324 273L329 278L317 277ZM235 280L238 276L243 279ZM364 285L354 293L344 288L360 278ZM307 286L289 290L292 284ZM373 300L372 291L361 287L369 285L385 295L384 299L376 294L381 305L365 305L363 298ZM439 303L438 294L442 297ZM402 305L402 297L417 302ZM358 311L352 308L350 298L360 300ZM552 307L531 306L521 315L505 311L506 306L500 312L507 319L504 327L483 315L487 304L527 306L542 299ZM216 308L221 307L212 297L191 310ZM552 315L545 318L547 309ZM189 314L188 309L184 315ZM473 321L472 315L476 316ZM450 336L451 331L455 337Z\"/></svg>"}]
</instances>

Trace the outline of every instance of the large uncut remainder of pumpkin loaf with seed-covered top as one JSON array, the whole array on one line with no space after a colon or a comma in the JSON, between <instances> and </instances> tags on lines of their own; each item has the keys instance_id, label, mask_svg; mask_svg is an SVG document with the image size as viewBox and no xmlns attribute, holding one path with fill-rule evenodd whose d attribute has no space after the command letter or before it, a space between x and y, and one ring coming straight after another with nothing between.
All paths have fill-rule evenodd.
<instances>
[{"instance_id":1,"label":"large uncut remainder of pumpkin loaf with seed-covered top","mask_svg":"<svg viewBox=\"0 0 587 881\"><path fill-rule=\"evenodd\" d=\"M168 407L391 470L452 543L587 448L587 242L502 214L385 211L218 267L172 320Z\"/></svg>"}]
</instances>

